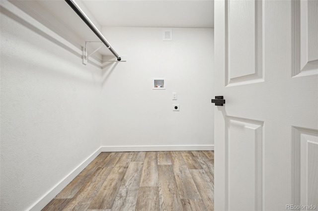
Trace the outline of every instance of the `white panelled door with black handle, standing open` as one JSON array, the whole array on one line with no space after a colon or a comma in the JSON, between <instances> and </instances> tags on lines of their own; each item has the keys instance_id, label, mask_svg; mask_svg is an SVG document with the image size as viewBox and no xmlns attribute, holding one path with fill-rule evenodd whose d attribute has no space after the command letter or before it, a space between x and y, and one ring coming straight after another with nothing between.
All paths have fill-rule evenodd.
<instances>
[{"instance_id":1,"label":"white panelled door with black handle, standing open","mask_svg":"<svg viewBox=\"0 0 318 211\"><path fill-rule=\"evenodd\" d=\"M215 93L215 210L318 210L318 0L215 0Z\"/></svg>"}]
</instances>

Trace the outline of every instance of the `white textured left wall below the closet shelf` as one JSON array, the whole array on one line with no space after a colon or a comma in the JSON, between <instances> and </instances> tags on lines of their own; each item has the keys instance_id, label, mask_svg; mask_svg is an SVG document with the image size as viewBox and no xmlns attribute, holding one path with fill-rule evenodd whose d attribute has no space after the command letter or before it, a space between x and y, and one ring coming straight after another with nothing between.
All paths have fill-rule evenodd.
<instances>
[{"instance_id":1,"label":"white textured left wall below the closet shelf","mask_svg":"<svg viewBox=\"0 0 318 211\"><path fill-rule=\"evenodd\" d=\"M101 141L101 69L12 8L0 17L1 211L30 208Z\"/></svg>"}]
</instances>

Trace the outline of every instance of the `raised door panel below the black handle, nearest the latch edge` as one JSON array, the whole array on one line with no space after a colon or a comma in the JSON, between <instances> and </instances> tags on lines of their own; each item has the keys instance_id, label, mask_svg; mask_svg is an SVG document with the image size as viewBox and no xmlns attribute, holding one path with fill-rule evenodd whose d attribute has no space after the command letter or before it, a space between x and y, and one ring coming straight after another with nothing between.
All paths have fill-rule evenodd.
<instances>
[{"instance_id":1,"label":"raised door panel below the black handle, nearest the latch edge","mask_svg":"<svg viewBox=\"0 0 318 211\"><path fill-rule=\"evenodd\" d=\"M263 122L228 117L228 210L259 211L262 205Z\"/></svg>"}]
</instances>

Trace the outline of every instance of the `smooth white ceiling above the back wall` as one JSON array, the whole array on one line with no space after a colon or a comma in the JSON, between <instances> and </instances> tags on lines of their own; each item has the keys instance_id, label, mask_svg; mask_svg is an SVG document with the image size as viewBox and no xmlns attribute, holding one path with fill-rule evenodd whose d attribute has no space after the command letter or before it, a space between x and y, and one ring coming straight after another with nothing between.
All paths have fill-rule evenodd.
<instances>
[{"instance_id":1,"label":"smooth white ceiling above the back wall","mask_svg":"<svg viewBox=\"0 0 318 211\"><path fill-rule=\"evenodd\" d=\"M213 28L213 0L83 0L104 27Z\"/></svg>"}]
</instances>

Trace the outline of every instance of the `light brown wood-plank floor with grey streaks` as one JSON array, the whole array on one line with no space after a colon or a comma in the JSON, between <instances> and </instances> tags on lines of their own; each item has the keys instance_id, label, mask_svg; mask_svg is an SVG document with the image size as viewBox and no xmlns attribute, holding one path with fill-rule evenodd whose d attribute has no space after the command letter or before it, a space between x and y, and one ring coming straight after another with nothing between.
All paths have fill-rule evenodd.
<instances>
[{"instance_id":1,"label":"light brown wood-plank floor with grey streaks","mask_svg":"<svg viewBox=\"0 0 318 211\"><path fill-rule=\"evenodd\" d=\"M42 211L214 211L214 152L101 153Z\"/></svg>"}]
</instances>

